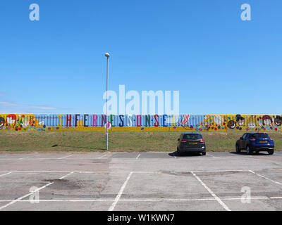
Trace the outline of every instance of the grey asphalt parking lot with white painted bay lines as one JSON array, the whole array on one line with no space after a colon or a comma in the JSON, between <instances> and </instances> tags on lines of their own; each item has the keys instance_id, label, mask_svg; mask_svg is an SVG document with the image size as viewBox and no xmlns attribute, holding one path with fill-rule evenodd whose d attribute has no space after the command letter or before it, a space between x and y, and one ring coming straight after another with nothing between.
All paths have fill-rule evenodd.
<instances>
[{"instance_id":1,"label":"grey asphalt parking lot with white painted bay lines","mask_svg":"<svg viewBox=\"0 0 282 225\"><path fill-rule=\"evenodd\" d=\"M0 210L282 210L282 152L2 153Z\"/></svg>"}]
</instances>

